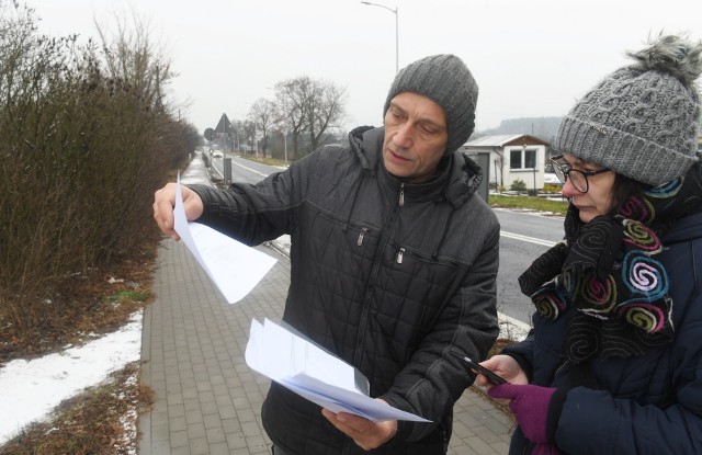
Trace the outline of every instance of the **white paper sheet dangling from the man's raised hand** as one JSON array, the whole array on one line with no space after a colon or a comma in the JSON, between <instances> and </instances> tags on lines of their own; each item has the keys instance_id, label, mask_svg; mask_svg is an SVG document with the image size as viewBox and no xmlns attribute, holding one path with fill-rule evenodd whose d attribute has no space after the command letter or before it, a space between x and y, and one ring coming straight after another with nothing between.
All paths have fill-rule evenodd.
<instances>
[{"instance_id":1,"label":"white paper sheet dangling from the man's raised hand","mask_svg":"<svg viewBox=\"0 0 702 455\"><path fill-rule=\"evenodd\" d=\"M200 223L183 209L180 174L173 209L176 232L229 304L242 299L271 270L275 259Z\"/></svg>"}]
</instances>

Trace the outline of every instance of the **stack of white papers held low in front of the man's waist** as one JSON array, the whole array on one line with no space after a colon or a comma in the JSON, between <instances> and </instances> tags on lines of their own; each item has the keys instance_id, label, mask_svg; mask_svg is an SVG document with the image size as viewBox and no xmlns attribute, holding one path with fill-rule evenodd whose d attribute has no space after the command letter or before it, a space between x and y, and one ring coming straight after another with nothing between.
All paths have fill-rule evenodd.
<instances>
[{"instance_id":1,"label":"stack of white papers held low in front of the man's waist","mask_svg":"<svg viewBox=\"0 0 702 455\"><path fill-rule=\"evenodd\" d=\"M263 323L251 321L246 363L332 412L349 412L376 422L429 422L369 397L361 391L367 389L367 379L353 366L269 319Z\"/></svg>"}]
</instances>

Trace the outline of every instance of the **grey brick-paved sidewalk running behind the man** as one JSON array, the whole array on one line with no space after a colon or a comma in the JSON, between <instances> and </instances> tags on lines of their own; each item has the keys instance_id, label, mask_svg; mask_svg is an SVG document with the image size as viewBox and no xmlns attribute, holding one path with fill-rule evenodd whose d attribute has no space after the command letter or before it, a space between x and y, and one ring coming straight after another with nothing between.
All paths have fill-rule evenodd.
<instances>
[{"instance_id":1,"label":"grey brick-paved sidewalk running behind the man","mask_svg":"<svg viewBox=\"0 0 702 455\"><path fill-rule=\"evenodd\" d=\"M141 455L270 454L261 403L270 380L244 360L251 319L280 321L290 261L273 269L241 302L228 305L181 242L165 239L154 277L157 299L144 312L141 382L155 391L140 416ZM512 423L480 393L454 408L449 454L506 454Z\"/></svg>"}]
</instances>

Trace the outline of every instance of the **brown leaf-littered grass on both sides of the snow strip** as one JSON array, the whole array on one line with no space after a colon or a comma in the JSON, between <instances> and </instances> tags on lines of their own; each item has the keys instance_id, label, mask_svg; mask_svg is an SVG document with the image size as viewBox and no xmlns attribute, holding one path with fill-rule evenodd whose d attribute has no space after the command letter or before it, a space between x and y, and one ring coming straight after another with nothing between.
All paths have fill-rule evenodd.
<instances>
[{"instance_id":1,"label":"brown leaf-littered grass on both sides of the snow strip","mask_svg":"<svg viewBox=\"0 0 702 455\"><path fill-rule=\"evenodd\" d=\"M152 298L158 241L143 240L143 251L109 270L95 270L71 296L56 296L65 310L50 330L19 333L0 330L0 367L13 359L32 359L79 345L126 323ZM60 319L60 320L56 320ZM35 422L0 446L0 455L135 454L138 414L148 411L152 391L139 382L139 363L64 401L46 422Z\"/></svg>"}]
</instances>

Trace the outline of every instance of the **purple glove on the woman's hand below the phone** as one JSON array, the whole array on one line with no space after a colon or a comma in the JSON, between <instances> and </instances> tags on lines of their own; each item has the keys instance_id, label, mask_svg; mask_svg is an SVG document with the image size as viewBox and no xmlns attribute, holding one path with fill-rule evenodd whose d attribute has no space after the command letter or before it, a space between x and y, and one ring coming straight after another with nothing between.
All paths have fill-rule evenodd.
<instances>
[{"instance_id":1,"label":"purple glove on the woman's hand below the phone","mask_svg":"<svg viewBox=\"0 0 702 455\"><path fill-rule=\"evenodd\" d=\"M553 400L556 391L561 394ZM532 385L500 384L490 387L487 393L491 398L511 400L509 409L529 441L534 444L553 441L566 390ZM542 453L550 453L547 445L541 447L545 451Z\"/></svg>"}]
</instances>

